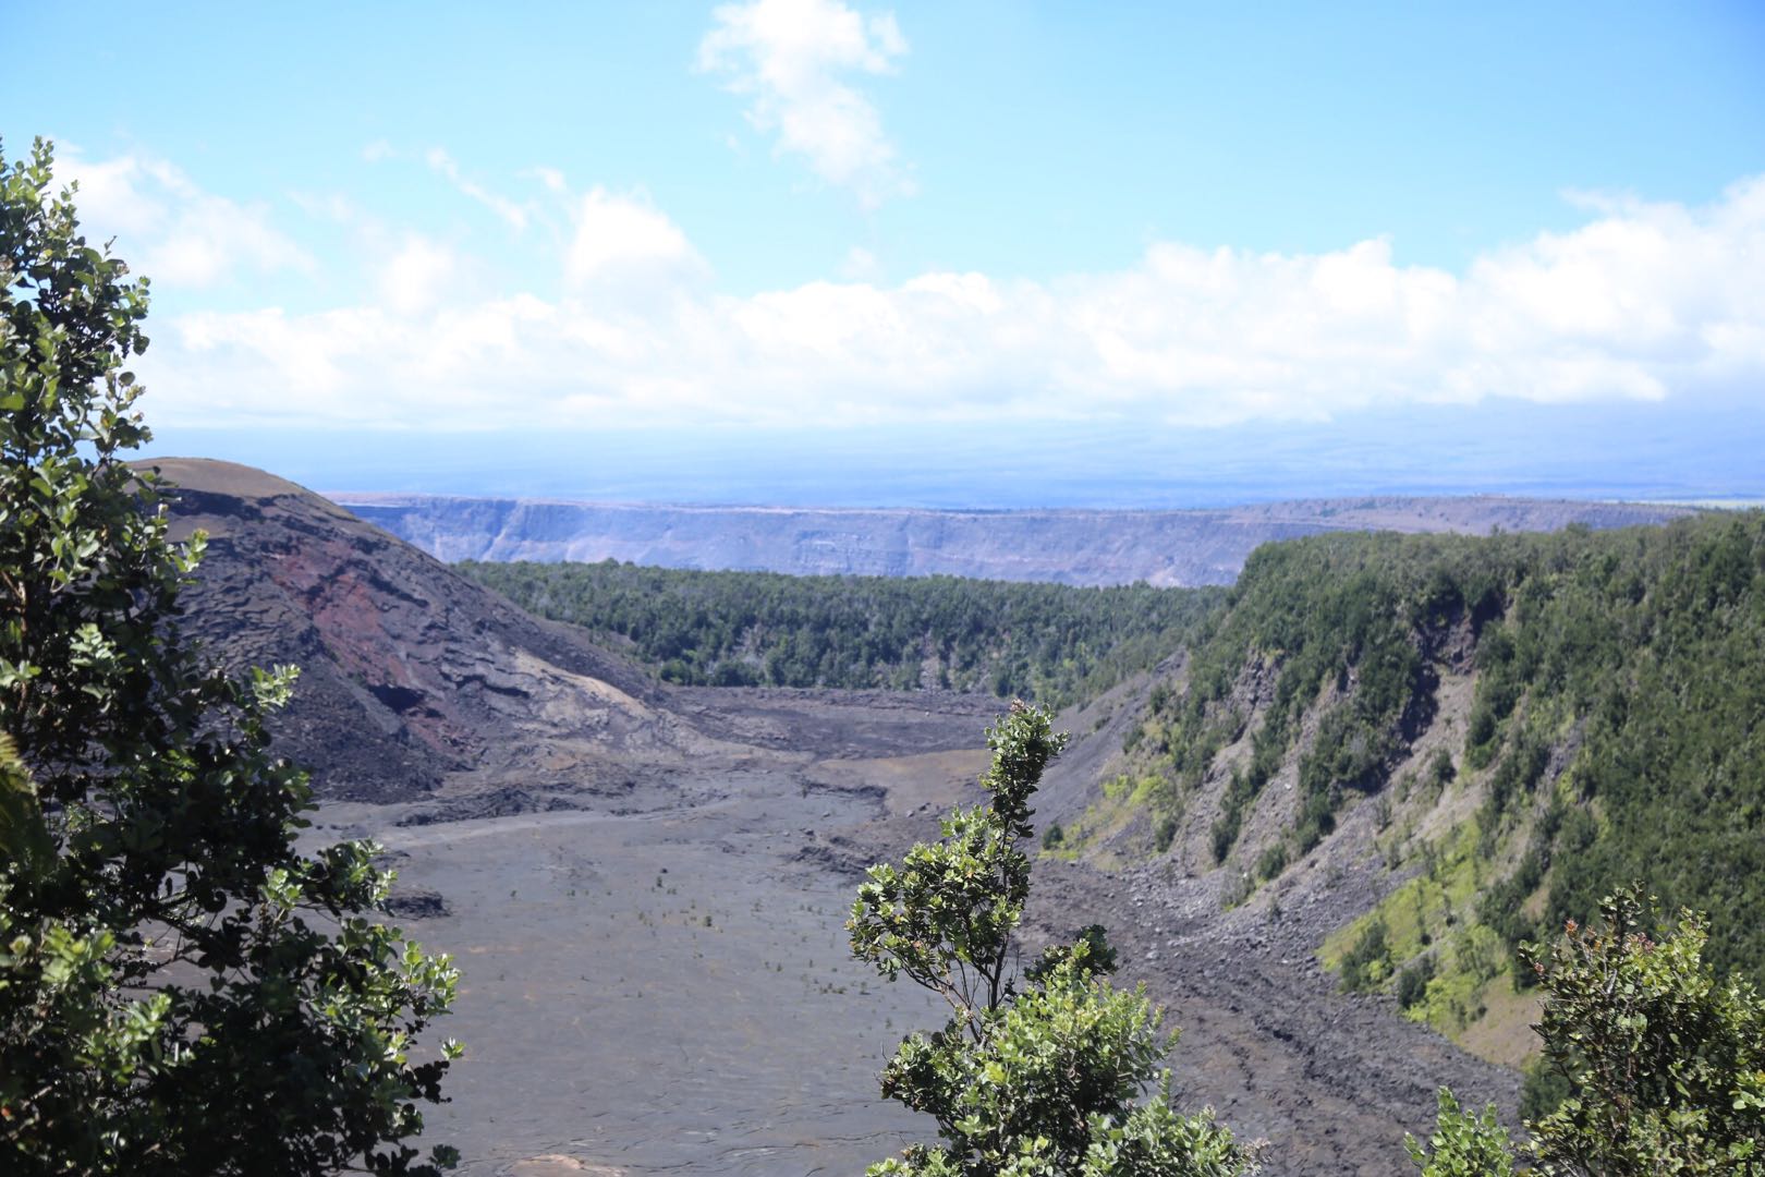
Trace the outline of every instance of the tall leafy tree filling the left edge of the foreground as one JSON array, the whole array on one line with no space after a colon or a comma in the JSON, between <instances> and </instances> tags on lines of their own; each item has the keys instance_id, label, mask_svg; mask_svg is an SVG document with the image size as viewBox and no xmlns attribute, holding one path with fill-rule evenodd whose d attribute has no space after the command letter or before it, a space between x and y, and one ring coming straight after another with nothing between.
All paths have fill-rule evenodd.
<instances>
[{"instance_id":1,"label":"tall leafy tree filling the left edge of the foreground","mask_svg":"<svg viewBox=\"0 0 1765 1177\"><path fill-rule=\"evenodd\" d=\"M452 1166L404 1142L454 967L367 918L374 847L295 849L311 791L263 727L295 672L182 641L201 538L120 457L146 281L49 185L42 141L0 162L0 1170Z\"/></svg>"}]
</instances>

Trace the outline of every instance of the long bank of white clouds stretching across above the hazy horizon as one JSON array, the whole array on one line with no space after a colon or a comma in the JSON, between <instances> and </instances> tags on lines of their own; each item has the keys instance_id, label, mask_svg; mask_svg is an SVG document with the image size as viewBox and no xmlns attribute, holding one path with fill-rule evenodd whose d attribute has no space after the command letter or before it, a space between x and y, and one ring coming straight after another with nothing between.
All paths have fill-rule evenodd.
<instances>
[{"instance_id":1,"label":"long bank of white clouds stretching across above the hazy horizon","mask_svg":"<svg viewBox=\"0 0 1765 1177\"><path fill-rule=\"evenodd\" d=\"M139 236L148 254L191 228L191 210L219 208L210 221L233 226L217 235L231 252L214 258L233 270L309 265L265 214L162 164L125 157L81 175L88 224ZM642 194L563 196L556 296L487 296L496 258L378 226L355 251L371 277L360 305L155 316L141 369L150 413L443 429L1003 416L1154 429L1765 388L1765 176L1707 206L1583 203L1580 228L1490 251L1463 274L1403 265L1387 240L1318 254L1158 242L1110 272L884 284L854 251L840 281L741 296L715 293L692 240ZM124 254L136 256L129 242Z\"/></svg>"}]
</instances>

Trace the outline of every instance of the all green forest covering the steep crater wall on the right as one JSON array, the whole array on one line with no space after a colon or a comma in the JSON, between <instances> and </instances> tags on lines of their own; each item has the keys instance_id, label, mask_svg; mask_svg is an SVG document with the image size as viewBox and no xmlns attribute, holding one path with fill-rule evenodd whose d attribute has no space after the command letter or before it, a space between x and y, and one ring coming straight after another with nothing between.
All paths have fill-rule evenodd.
<instances>
[{"instance_id":1,"label":"all green forest covering the steep crater wall on the right","mask_svg":"<svg viewBox=\"0 0 1765 1177\"><path fill-rule=\"evenodd\" d=\"M1461 731L1393 780L1454 672L1476 676ZM1262 706L1246 706L1246 683L1269 678ZM1474 875L1461 916L1509 953L1641 881L1666 909L1716 916L1712 963L1765 974L1765 514L1266 545L1197 635L1186 686L1154 686L1128 745L1163 782L1151 805L1168 808L1246 736L1213 828L1221 861L1290 755L1299 803L1285 845L1258 847L1264 877L1359 798L1378 794L1389 821L1393 803L1476 789L1472 821L1421 847L1417 882L1444 896L1453 870ZM1389 921L1391 942L1382 912L1343 963L1361 971L1377 956L1375 979L1408 963L1419 997L1440 956L1430 944L1465 930L1451 926L1451 903L1410 900L1416 912Z\"/></svg>"}]
</instances>

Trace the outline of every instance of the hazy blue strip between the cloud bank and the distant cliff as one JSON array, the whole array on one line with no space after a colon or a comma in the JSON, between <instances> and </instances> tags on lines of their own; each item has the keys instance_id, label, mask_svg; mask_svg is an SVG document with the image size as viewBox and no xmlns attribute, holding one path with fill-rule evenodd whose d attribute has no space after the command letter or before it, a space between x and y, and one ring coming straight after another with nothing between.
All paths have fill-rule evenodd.
<instances>
[{"instance_id":1,"label":"hazy blue strip between the cloud bank and the distant cliff","mask_svg":"<svg viewBox=\"0 0 1765 1177\"><path fill-rule=\"evenodd\" d=\"M314 491L750 506L1216 508L1368 494L1765 501L1765 415L1687 420L1659 406L1504 418L1442 408L1269 429L607 431L385 434L157 429L159 457L215 457Z\"/></svg>"}]
</instances>

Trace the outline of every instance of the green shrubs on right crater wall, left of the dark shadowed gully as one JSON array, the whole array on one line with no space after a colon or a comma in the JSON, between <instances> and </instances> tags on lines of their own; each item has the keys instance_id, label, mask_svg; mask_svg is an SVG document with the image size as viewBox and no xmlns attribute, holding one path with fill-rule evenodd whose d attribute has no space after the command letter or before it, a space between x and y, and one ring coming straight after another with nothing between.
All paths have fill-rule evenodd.
<instances>
[{"instance_id":1,"label":"green shrubs on right crater wall, left of the dark shadowed gully","mask_svg":"<svg viewBox=\"0 0 1765 1177\"><path fill-rule=\"evenodd\" d=\"M1407 736L1431 715L1435 646L1454 625L1474 628L1500 611L1500 568L1479 544L1488 542L1340 533L1251 554L1228 607L1190 646L1186 690L1154 690L1128 748L1158 764L1175 801L1250 734L1213 824L1216 861L1237 845L1311 709L1322 718L1299 759L1283 859L1327 836L1350 792L1384 787Z\"/></svg>"}]
</instances>

